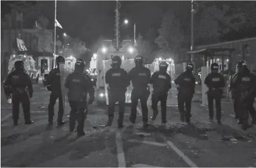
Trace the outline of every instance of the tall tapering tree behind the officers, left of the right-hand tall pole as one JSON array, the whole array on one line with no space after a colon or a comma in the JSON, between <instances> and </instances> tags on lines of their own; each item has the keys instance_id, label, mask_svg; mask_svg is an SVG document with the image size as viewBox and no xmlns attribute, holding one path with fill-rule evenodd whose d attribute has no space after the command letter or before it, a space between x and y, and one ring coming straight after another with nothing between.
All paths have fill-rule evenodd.
<instances>
[{"instance_id":1,"label":"tall tapering tree behind the officers, left of the right-hand tall pole","mask_svg":"<svg viewBox=\"0 0 256 168\"><path fill-rule=\"evenodd\" d=\"M185 36L180 28L180 21L176 18L172 10L168 10L163 19L161 28L158 29L159 35L155 42L162 51L177 54L182 47Z\"/></svg>"}]
</instances>

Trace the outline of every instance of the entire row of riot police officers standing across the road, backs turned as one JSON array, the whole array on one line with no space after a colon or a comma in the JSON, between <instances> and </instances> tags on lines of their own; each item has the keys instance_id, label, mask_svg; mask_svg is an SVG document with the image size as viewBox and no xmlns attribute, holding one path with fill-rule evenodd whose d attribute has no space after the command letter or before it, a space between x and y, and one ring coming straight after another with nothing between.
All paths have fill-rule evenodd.
<instances>
[{"instance_id":1,"label":"entire row of riot police officers standing across the road, backs turned","mask_svg":"<svg viewBox=\"0 0 256 168\"><path fill-rule=\"evenodd\" d=\"M49 100L49 125L53 125L54 104L59 99L58 125L63 125L64 104L61 92L61 76L60 64L65 62L64 57L57 57L57 68L51 70L49 76L45 76L43 80L46 88L51 91ZM87 92L90 95L88 104L94 101L94 88L88 74L83 73L85 61L77 59L75 71L69 74L65 80L65 87L68 88L69 105L71 106L71 114L69 118L69 128L73 132L75 129L75 121L78 121L77 136L83 136L84 120L87 114ZM25 124L32 124L30 120L30 100L32 98L32 83L27 73L24 71L24 62L17 61L14 64L15 70L10 73L3 84L4 91L7 96L12 94L13 102L13 124L18 123L19 103L23 104ZM132 81L133 90L131 94L131 115L129 120L135 124L136 108L138 100L142 104L143 126L146 128L148 124L147 99L149 98L149 84L153 85L153 94L151 96L153 117L152 122L158 114L157 104L161 102L161 118L162 124L166 124L166 100L168 91L172 87L171 79L166 70L168 64L160 62L159 71L151 76L150 70L143 66L143 57L137 55L135 57L135 68L129 73L121 68L121 58L115 55L112 58L112 68L106 72L106 84L108 84L109 92L109 120L106 126L111 126L114 117L114 106L119 103L118 128L123 128L124 108L125 108L125 92ZM184 73L180 74L175 80L178 90L178 107L180 111L181 121L190 122L191 118L191 102L195 92L195 77L192 74L194 65L187 64ZM255 76L247 69L246 62L239 62L237 65L238 72L232 77L230 89L233 91L233 100L235 104L239 104L239 112L236 116L242 124L242 129L248 128L248 111L253 118L252 124L255 124L256 113L253 109L255 98ZM218 124L221 124L221 98L222 87L225 86L224 77L218 73L218 64L211 65L212 72L205 79L205 84L209 88L207 91L209 117L213 119L213 100L216 101L216 117ZM184 110L185 104L185 110Z\"/></svg>"}]
</instances>

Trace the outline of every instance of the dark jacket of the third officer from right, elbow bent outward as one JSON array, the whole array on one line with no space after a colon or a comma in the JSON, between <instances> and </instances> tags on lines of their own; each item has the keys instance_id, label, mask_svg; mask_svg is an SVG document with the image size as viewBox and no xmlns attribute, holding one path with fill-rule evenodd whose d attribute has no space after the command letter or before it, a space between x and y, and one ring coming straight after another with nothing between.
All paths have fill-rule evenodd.
<instances>
[{"instance_id":1,"label":"dark jacket of the third officer from right, elbow bent outward","mask_svg":"<svg viewBox=\"0 0 256 168\"><path fill-rule=\"evenodd\" d=\"M195 77L192 72L185 71L181 73L174 82L179 85L179 89L190 89L192 93L195 92Z\"/></svg>"}]
</instances>

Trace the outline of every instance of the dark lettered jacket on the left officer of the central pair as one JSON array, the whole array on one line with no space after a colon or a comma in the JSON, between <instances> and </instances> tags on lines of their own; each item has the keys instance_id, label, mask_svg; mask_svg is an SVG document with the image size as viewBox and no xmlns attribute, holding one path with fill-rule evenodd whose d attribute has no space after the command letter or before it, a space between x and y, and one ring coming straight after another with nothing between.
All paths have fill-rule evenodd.
<instances>
[{"instance_id":1,"label":"dark lettered jacket on the left officer of the central pair","mask_svg":"<svg viewBox=\"0 0 256 168\"><path fill-rule=\"evenodd\" d=\"M110 89L125 89L130 85L128 73L123 68L107 70L105 81Z\"/></svg>"}]
</instances>

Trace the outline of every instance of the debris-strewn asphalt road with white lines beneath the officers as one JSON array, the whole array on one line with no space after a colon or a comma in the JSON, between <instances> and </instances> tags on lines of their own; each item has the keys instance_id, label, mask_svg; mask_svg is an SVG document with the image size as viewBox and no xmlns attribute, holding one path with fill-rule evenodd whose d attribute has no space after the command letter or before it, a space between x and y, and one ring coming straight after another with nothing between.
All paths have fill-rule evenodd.
<instances>
[{"instance_id":1,"label":"debris-strewn asphalt road with white lines beneath the officers","mask_svg":"<svg viewBox=\"0 0 256 168\"><path fill-rule=\"evenodd\" d=\"M33 125L24 125L20 110L20 125L13 127L11 106L1 100L1 167L256 167L256 126L240 130L231 116L230 103L222 103L222 126L209 122L207 107L196 101L191 124L185 124L179 120L176 94L171 91L168 126L159 126L158 116L156 124L147 129L142 128L140 107L134 127L126 107L125 127L117 129L118 109L113 126L105 128L101 125L107 121L106 108L92 104L86 136L77 139L75 133L69 133L68 123L61 128L47 127L50 93L42 84L35 84L34 90ZM65 120L68 113L66 107Z\"/></svg>"}]
</instances>

